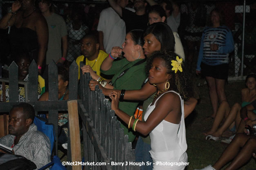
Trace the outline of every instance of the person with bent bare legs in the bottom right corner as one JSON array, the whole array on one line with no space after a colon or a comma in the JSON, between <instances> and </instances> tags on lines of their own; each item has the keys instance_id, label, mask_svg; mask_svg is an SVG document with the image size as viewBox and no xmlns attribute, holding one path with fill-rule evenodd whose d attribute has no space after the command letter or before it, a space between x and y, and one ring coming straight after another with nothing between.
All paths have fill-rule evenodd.
<instances>
[{"instance_id":1,"label":"person with bent bare legs in the bottom right corner","mask_svg":"<svg viewBox=\"0 0 256 170\"><path fill-rule=\"evenodd\" d=\"M238 170L245 165L252 156L256 158L256 137L238 133L232 142L224 150L220 158L213 166L209 165L201 170L220 170L232 161L225 170Z\"/></svg>"}]
</instances>

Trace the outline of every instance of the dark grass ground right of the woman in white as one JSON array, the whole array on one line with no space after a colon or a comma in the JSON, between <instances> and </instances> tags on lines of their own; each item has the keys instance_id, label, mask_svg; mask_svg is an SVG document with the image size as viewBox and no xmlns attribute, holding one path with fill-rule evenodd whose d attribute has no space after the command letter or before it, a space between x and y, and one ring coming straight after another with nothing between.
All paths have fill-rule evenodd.
<instances>
[{"instance_id":1,"label":"dark grass ground right of the woman in white","mask_svg":"<svg viewBox=\"0 0 256 170\"><path fill-rule=\"evenodd\" d=\"M200 82L204 82L204 79L200 79ZM229 82L225 86L230 106L236 102L241 103L240 91L242 88L245 88L244 82ZM205 140L205 135L202 132L211 128L213 123L213 120L205 118L212 114L212 108L207 85L199 86L198 90L200 91L200 102L194 112L186 118L187 154L189 157L187 170L201 169L210 164L213 165L228 146L228 144L220 141ZM255 169L255 163L255 159L251 159L240 170Z\"/></svg>"}]
</instances>

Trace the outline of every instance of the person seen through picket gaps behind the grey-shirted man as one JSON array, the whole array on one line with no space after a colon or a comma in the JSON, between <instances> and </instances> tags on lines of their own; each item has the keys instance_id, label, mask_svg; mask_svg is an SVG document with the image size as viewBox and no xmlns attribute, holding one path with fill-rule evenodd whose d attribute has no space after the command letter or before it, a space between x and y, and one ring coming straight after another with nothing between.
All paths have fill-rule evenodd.
<instances>
[{"instance_id":1,"label":"person seen through picket gaps behind the grey-shirted man","mask_svg":"<svg viewBox=\"0 0 256 170\"><path fill-rule=\"evenodd\" d=\"M69 99L69 71L64 66L58 67L58 100L68 100ZM38 101L48 101L49 92L45 92ZM48 118L48 114L47 114ZM59 113L58 115L58 143L67 143L68 135L68 114Z\"/></svg>"}]
</instances>

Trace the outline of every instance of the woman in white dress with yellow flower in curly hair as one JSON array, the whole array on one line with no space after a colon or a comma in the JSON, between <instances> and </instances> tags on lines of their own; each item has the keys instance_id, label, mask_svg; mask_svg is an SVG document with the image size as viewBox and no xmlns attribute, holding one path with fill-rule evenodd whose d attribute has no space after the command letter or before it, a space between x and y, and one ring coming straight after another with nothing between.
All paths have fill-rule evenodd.
<instances>
[{"instance_id":1,"label":"woman in white dress with yellow flower in curly hair","mask_svg":"<svg viewBox=\"0 0 256 170\"><path fill-rule=\"evenodd\" d=\"M191 83L183 72L183 62L174 52L152 53L147 63L149 83L158 88L145 113L145 122L118 108L119 92L109 95L111 108L128 128L150 135L153 170L183 170L187 165L187 143L183 99L188 100Z\"/></svg>"}]
</instances>

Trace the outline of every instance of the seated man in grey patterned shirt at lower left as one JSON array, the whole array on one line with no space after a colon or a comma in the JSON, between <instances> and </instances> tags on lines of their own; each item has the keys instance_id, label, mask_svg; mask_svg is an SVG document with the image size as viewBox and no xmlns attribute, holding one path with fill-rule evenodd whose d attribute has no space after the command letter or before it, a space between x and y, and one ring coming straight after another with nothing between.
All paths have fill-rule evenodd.
<instances>
[{"instance_id":1,"label":"seated man in grey patterned shirt at lower left","mask_svg":"<svg viewBox=\"0 0 256 170\"><path fill-rule=\"evenodd\" d=\"M13 106L9 112L9 135L0 138L0 144L11 147L13 154L29 159L39 169L51 161L51 143L33 124L34 117L30 104Z\"/></svg>"}]
</instances>

